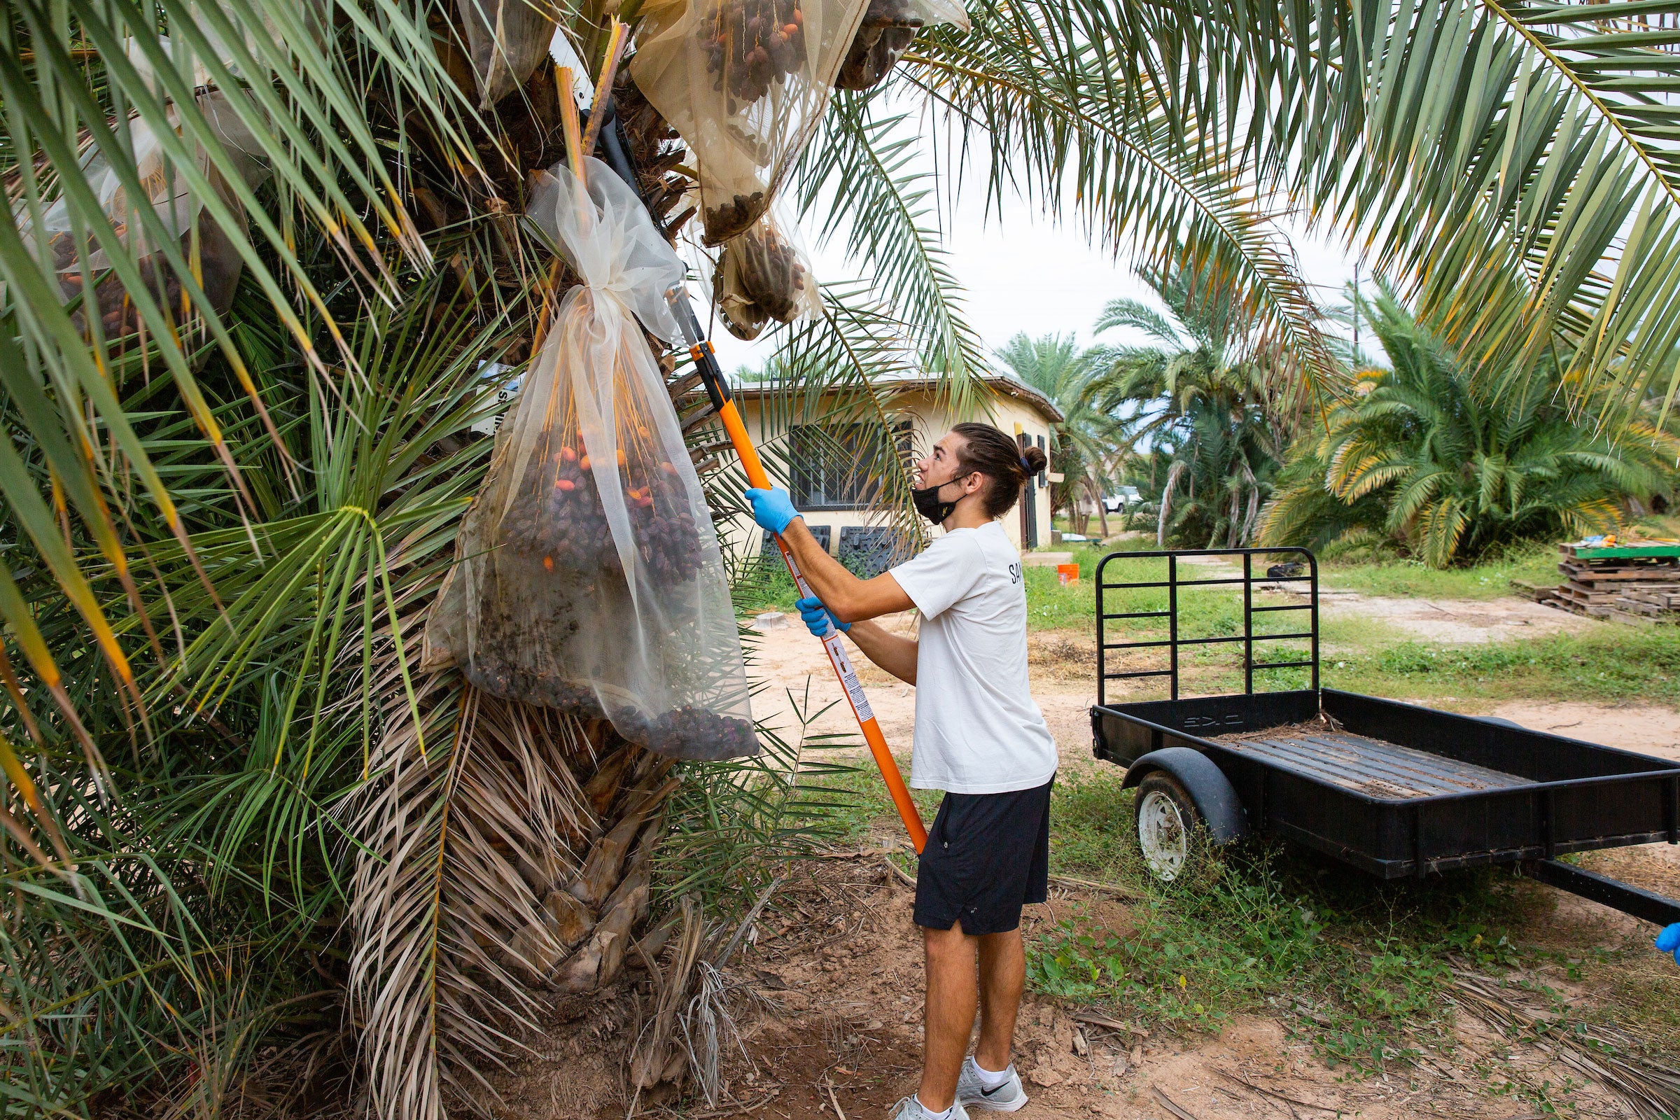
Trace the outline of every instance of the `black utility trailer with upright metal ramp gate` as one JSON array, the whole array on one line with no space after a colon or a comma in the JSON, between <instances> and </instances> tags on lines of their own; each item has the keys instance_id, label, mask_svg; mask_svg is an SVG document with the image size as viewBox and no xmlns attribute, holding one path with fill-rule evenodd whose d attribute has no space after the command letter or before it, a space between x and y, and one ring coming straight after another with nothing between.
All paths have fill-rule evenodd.
<instances>
[{"instance_id":1,"label":"black utility trailer with upright metal ramp gate","mask_svg":"<svg viewBox=\"0 0 1680 1120\"><path fill-rule=\"evenodd\" d=\"M1240 564L1242 576L1201 557ZM1154 574L1137 566L1159 561L1166 579L1126 578ZM1181 591L1221 584L1242 586L1242 633L1184 636ZM1122 589L1164 591L1164 610L1116 610ZM1265 589L1287 594L1263 601ZM1556 858L1680 841L1680 764L1320 688L1319 564L1307 549L1110 552L1097 564L1095 591L1095 756L1127 767L1126 786L1139 788L1137 841L1159 878L1174 878L1198 843L1263 831L1383 878L1515 863L1635 917L1680 922L1680 903ZM1268 626L1267 616L1278 621ZM1166 636L1117 636L1136 620L1164 623ZM1278 653L1277 643L1297 652ZM1240 695L1179 697L1181 650L1201 645L1240 645ZM1139 650L1158 657L1116 667L1116 655ZM1285 668L1305 670L1312 687L1255 692L1257 675L1265 682ZM1168 678L1169 699L1107 702L1109 682L1141 677Z\"/></svg>"}]
</instances>

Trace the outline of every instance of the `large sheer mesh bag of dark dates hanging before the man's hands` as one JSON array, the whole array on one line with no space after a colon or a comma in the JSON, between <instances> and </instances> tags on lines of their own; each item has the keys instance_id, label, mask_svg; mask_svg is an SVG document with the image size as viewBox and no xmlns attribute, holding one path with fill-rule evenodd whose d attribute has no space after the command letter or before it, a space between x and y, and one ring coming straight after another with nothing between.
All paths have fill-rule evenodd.
<instances>
[{"instance_id":1,"label":"large sheer mesh bag of dark dates hanging before the man's hands","mask_svg":"<svg viewBox=\"0 0 1680 1120\"><path fill-rule=\"evenodd\" d=\"M635 191L586 166L588 190L559 165L531 195L583 284L496 433L427 663L660 754L756 754L717 534L643 334L677 338L664 294L684 267Z\"/></svg>"}]
</instances>

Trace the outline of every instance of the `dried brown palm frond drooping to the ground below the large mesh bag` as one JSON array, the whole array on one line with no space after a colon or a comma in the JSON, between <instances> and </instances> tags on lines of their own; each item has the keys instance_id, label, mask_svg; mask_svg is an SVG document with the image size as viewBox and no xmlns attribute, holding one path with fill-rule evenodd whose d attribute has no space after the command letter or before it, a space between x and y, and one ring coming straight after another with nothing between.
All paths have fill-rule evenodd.
<instances>
[{"instance_id":1,"label":"dried brown palm frond drooping to the ground below the large mesh bag","mask_svg":"<svg viewBox=\"0 0 1680 1120\"><path fill-rule=\"evenodd\" d=\"M526 937L514 949L516 935L546 929L531 880L580 866L566 841L595 816L568 759L590 746L575 720L452 675L427 678L413 705L398 685L391 707L349 828L349 1002L375 1108L432 1117L447 1090L469 1090L462 1078L482 1083L509 1029L534 1026L524 972L561 945Z\"/></svg>"}]
</instances>

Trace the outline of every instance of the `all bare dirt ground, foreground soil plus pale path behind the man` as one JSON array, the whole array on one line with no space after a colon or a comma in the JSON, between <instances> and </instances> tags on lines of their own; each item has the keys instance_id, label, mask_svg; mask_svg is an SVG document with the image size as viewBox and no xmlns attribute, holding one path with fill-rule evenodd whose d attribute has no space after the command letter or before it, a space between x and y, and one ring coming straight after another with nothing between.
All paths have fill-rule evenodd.
<instances>
[{"instance_id":1,"label":"all bare dirt ground, foreground soil plus pale path behind the man","mask_svg":"<svg viewBox=\"0 0 1680 1120\"><path fill-rule=\"evenodd\" d=\"M1379 618L1431 641L1490 641L1520 635L1596 626L1591 620L1539 608L1522 599L1443 601L1388 599L1352 593L1326 596L1326 613ZM900 630L909 616L887 620ZM1050 722L1063 772L1102 762L1090 756L1089 709L1095 700L1094 643L1072 631L1030 638L1033 695ZM852 650L855 655L855 650ZM796 709L830 710L806 732L857 730L822 645L798 618L763 630L749 658L764 688L754 712L791 739L800 734ZM860 678L882 730L907 756L916 717L916 690L889 678L858 657ZM838 704L837 704L838 702ZM1658 705L1544 704L1520 700L1478 710L1525 727L1631 747L1680 759L1680 712ZM858 751L862 754L862 751ZM858 1120L885 1117L914 1091L921 1065L921 942L911 922L912 887L885 861L899 838L885 826L862 848L803 865L748 937L744 954L726 971L729 1009L721 1061L722 1095L712 1105L692 1098L682 1112L660 1095L638 1098L635 1115L774 1117L778 1120ZM874 845L874 846L872 846ZM1680 895L1680 851L1667 845L1594 853L1588 865L1668 895ZM1537 888L1539 890L1539 888ZM1110 929L1127 929L1126 903L1080 887L1057 885L1050 902L1028 907L1023 932L1032 937L1058 912L1082 907ZM1653 927L1596 903L1557 895L1546 934L1559 945L1638 945ZM1567 957L1567 950L1559 954ZM1650 954L1656 960L1656 954ZM1650 979L1635 989L1668 991L1672 977L1643 960ZM1672 966L1670 969L1672 971ZM1626 977L1601 991L1572 984L1561 969L1541 967L1529 979L1572 991L1588 1002L1613 1004L1630 994ZM509 1120L583 1120L630 1115L625 1055L647 1019L654 986L630 969L605 997L553 1009L549 1031L534 1055L494 1078L502 1095L497 1117ZM1574 1086L1579 1117L1633 1117L1628 1102L1586 1076L1579 1063L1552 1046L1512 1043L1460 1004L1452 1053L1426 1049L1416 1066L1388 1076L1354 1078L1329 1068L1287 1014L1240 1016L1218 1036L1161 1036L1092 1011L1028 996L1016 1033L1016 1066L1032 1103L1023 1120L1151 1117L1163 1120L1235 1120L1278 1117L1411 1117L1541 1120L1539 1086ZM981 1115L981 1113L976 1113ZM1546 1115L1552 1115L1547 1108Z\"/></svg>"}]
</instances>

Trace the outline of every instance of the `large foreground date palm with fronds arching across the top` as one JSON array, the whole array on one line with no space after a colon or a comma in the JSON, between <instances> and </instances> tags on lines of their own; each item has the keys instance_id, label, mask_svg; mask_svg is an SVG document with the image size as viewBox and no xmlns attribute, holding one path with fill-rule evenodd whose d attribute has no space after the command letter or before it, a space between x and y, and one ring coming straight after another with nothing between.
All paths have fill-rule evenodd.
<instances>
[{"instance_id":1,"label":"large foreground date palm with fronds arching across the top","mask_svg":"<svg viewBox=\"0 0 1680 1120\"><path fill-rule=\"evenodd\" d=\"M595 69L606 10L7 7L0 1049L18 1108L215 1112L265 1065L331 1093L297 1046L338 1031L378 1115L467 1107L549 987L612 981L659 851L727 816L704 798L771 781L685 767L672 793L638 744L486 697L420 643L486 465L480 371L526 361L553 296L517 218L528 173L561 160L564 92L546 64L492 87L474 42L529 24L501 44L511 72L554 18ZM1623 415L1667 369L1667 15L976 0L971 18L835 97L785 188L870 277L785 334L786 400L875 410L889 504L904 482L872 383L917 366L978 391L986 361L924 146L1210 277L1280 400L1334 374L1282 200L1371 245L1457 346L1556 348ZM618 107L670 218L677 138L628 79ZM669 368L724 505L738 472ZM739 885L692 866L660 882Z\"/></svg>"}]
</instances>

